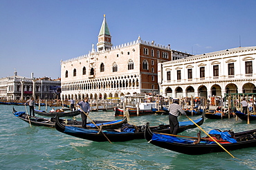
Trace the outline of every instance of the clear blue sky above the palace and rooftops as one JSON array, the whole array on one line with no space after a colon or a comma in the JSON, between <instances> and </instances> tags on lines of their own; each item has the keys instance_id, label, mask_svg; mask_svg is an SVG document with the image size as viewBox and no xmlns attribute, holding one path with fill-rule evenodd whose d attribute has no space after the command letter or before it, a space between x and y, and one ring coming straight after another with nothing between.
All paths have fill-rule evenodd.
<instances>
[{"instance_id":1,"label":"clear blue sky above the palace and rooftops","mask_svg":"<svg viewBox=\"0 0 256 170\"><path fill-rule=\"evenodd\" d=\"M255 0L0 0L0 78L60 78L89 54L106 14L112 44L144 41L203 54L256 46Z\"/></svg>"}]
</instances>

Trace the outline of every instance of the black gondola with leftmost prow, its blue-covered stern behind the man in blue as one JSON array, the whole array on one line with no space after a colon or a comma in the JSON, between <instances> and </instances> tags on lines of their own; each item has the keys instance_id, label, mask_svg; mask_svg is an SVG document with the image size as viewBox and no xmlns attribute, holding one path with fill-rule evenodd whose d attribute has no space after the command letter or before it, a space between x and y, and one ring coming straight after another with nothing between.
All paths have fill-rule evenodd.
<instances>
[{"instance_id":1,"label":"black gondola with leftmost prow, its blue-covered stern behind the man in blue","mask_svg":"<svg viewBox=\"0 0 256 170\"><path fill-rule=\"evenodd\" d=\"M12 108L12 114L20 118L21 120L24 120L26 123L30 123L31 125L35 126L45 126L45 127L55 127L55 120L56 118L30 118L28 114L26 114L24 111L16 111L15 108ZM30 120L28 120L30 118ZM60 119L59 122L66 126L73 126L73 127L82 127L82 121L77 121L73 119ZM104 128L109 129L115 129L122 127L123 124L127 123L127 118L123 118L121 120L93 120L93 123L95 123L97 126L102 125ZM86 124L87 128L95 128L95 125L89 122Z\"/></svg>"}]
</instances>

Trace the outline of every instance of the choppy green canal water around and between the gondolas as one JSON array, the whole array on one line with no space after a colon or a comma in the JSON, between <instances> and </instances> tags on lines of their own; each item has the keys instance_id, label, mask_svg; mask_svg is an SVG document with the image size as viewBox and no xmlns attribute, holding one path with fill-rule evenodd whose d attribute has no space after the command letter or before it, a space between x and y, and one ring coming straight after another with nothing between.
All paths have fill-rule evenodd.
<instances>
[{"instance_id":1,"label":"choppy green canal water around and between the gondolas","mask_svg":"<svg viewBox=\"0 0 256 170\"><path fill-rule=\"evenodd\" d=\"M253 148L189 156L156 147L146 140L127 142L93 142L62 134L49 127L30 127L13 116L12 105L0 105L0 169L256 169L256 146ZM24 106L15 106L26 111ZM113 111L91 112L93 120L116 120ZM43 117L43 116L41 116ZM199 118L194 116L193 119ZM77 120L81 120L77 116ZM180 116L179 121L188 118ZM131 124L168 123L167 116L131 117ZM255 129L256 123L241 120L209 120L201 125L205 131ZM180 135L196 136L198 128ZM202 134L202 136L204 136Z\"/></svg>"}]
</instances>

